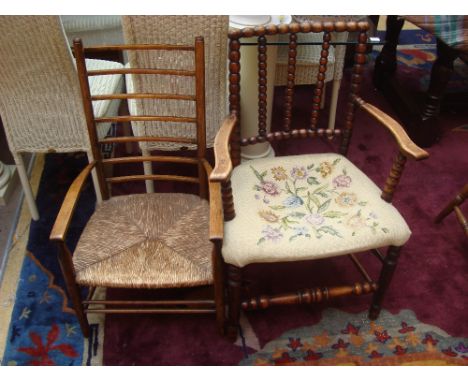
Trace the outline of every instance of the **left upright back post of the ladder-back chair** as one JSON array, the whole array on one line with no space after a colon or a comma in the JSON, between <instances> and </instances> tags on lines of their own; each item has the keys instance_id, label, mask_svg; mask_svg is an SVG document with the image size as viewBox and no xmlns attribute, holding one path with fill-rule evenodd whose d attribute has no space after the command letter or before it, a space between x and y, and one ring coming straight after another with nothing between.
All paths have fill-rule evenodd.
<instances>
[{"instance_id":1,"label":"left upright back post of the ladder-back chair","mask_svg":"<svg viewBox=\"0 0 468 382\"><path fill-rule=\"evenodd\" d=\"M91 101L91 90L87 78L86 61L84 55L83 43L80 38L73 40L73 50L75 53L76 68L82 94L83 109L86 117L86 125L91 143L91 152L93 159L96 161L96 173L101 190L102 199L109 199L109 190L104 180L104 170L102 165L101 150L99 149L99 141L97 136L96 121L94 119L93 104Z\"/></svg>"}]
</instances>

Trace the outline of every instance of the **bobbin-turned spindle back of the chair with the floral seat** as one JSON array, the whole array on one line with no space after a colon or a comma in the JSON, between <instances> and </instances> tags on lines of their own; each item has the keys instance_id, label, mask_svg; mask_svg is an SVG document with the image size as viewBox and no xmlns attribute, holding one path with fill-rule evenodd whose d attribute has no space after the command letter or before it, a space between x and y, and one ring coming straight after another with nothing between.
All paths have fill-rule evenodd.
<instances>
[{"instance_id":1,"label":"bobbin-turned spindle back of the chair with the floral seat","mask_svg":"<svg viewBox=\"0 0 468 382\"><path fill-rule=\"evenodd\" d=\"M341 136L340 152L345 155L349 146L353 128L354 102L353 97L358 95L363 67L366 62L367 44L366 22L306 22L301 24L268 25L266 27L245 28L243 30L230 30L229 33L229 101L230 112L240 114L240 47L242 38L258 36L258 135L240 139L240 125L236 125L231 141L231 158L233 166L240 163L240 147L261 142L283 141L291 138L311 138L326 136L330 139ZM294 99L294 78L296 72L297 33L321 33L323 32L323 43L320 57L320 68L317 74L314 96L311 99L311 114L309 126L301 129L292 129L292 109ZM325 76L327 71L327 57L330 48L331 32L357 32L357 45L355 63L353 66L352 85L350 89L349 102L346 110L346 125L344 130L318 129L320 115L320 103L322 100ZM289 60L288 81L285 89L284 117L282 131L267 133L267 84L266 57L268 54L267 37L276 34L289 34Z\"/></svg>"}]
</instances>

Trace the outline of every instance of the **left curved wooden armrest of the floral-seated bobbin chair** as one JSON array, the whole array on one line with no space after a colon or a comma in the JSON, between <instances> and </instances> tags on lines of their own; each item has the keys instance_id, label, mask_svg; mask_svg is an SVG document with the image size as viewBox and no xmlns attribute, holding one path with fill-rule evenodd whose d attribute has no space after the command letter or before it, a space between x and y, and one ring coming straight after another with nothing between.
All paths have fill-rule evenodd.
<instances>
[{"instance_id":1,"label":"left curved wooden armrest of the floral-seated bobbin chair","mask_svg":"<svg viewBox=\"0 0 468 382\"><path fill-rule=\"evenodd\" d=\"M229 140L236 123L237 117L234 114L229 115L216 134L214 142L215 168L209 178L214 182L227 180L231 175L232 162L229 155Z\"/></svg>"}]
</instances>

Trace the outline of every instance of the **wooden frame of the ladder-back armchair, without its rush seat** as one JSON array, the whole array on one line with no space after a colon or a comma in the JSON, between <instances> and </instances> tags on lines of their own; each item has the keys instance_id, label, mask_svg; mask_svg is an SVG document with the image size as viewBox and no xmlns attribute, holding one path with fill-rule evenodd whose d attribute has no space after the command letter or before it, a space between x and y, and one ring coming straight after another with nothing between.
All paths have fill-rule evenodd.
<instances>
[{"instance_id":1,"label":"wooden frame of the ladder-back armchair, without its rush seat","mask_svg":"<svg viewBox=\"0 0 468 382\"><path fill-rule=\"evenodd\" d=\"M182 71L170 69L140 69L140 68L124 68L119 70L99 70L87 71L84 65L84 54L86 53L100 53L109 51L129 51L129 50L180 50L180 51L193 51L195 55L195 70ZM78 68L78 75L80 86L83 96L83 106L85 109L86 120L88 125L89 137L91 140L91 147L93 148L93 155L95 161L90 163L74 180L70 189L68 190L63 201L60 212L57 216L55 225L52 229L50 239L58 246L58 256L60 266L65 277L68 293L73 302L78 320L83 331L87 337L89 335L89 324L87 320L87 313L160 313L160 314L185 314L185 313L215 313L217 324L220 332L224 328L224 299L223 299L223 260L216 245L212 251L212 266L213 266L213 283L214 283L214 299L203 300L164 300L164 301L95 301L93 294L95 288L90 289L90 293L86 299L81 298L80 287L75 281L75 270L73 266L72 253L68 249L65 240L67 231L70 225L73 212L76 208L80 193L92 169L97 170L99 185L102 190L103 199L109 199L109 190L106 183L120 183L127 181L144 181L148 179L159 181L179 181L196 183L199 185L199 195L201 198L209 199L210 202L210 220L211 226L216 227L222 221L221 212L221 191L220 185L216 183L208 183L208 178L212 172L212 167L206 159L206 135L205 135L205 67L204 67L204 41L202 37L195 39L194 46L179 46L179 45L115 45L115 46L102 46L83 48L80 39L74 41L74 51L76 55L76 62ZM150 94L150 93L132 93L132 94L105 94L91 96L89 90L88 77L95 75L112 75L112 74L160 74L160 75L182 75L195 77L195 95L182 96L177 94ZM163 117L163 116L118 116L109 118L95 118L93 115L92 101L101 99L189 99L196 101L196 117ZM115 137L104 138L98 140L96 135L96 124L99 122L129 122L129 121L171 121L171 122L191 122L196 125L197 136L196 139L189 138L175 138L175 137ZM116 143L126 144L128 142L142 142L142 141L160 141L160 142L177 142L177 143L192 143L197 144L196 158L188 158L182 156L165 155L165 156L129 156L121 158L103 159L98 149L100 144L103 143ZM115 165L119 163L144 163L144 162L171 162L171 163L185 163L192 164L198 168L198 177L187 177L178 175L134 175L134 176L121 176L109 177L104 175L103 167L106 165ZM207 237L207 240L209 238ZM104 305L104 308L95 308L92 305ZM116 307L118 306L118 307Z\"/></svg>"}]
</instances>

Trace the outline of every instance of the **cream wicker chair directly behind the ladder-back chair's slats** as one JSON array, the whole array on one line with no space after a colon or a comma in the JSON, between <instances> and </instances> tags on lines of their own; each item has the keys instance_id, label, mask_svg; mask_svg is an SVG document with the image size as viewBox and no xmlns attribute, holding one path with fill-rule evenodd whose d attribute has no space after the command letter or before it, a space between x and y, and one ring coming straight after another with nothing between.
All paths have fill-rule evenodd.
<instances>
[{"instance_id":1,"label":"cream wicker chair directly behind the ladder-back chair's slats","mask_svg":"<svg viewBox=\"0 0 468 382\"><path fill-rule=\"evenodd\" d=\"M228 16L123 16L122 25L124 38L128 44L189 44L195 36L203 36L205 39L205 68L206 68L206 144L213 146L214 137L226 115L226 53L227 31L229 26ZM146 52L139 52L140 64L151 64L152 60L164 65L172 65L183 69L190 65L190 60L177 57L177 62L172 57L150 57ZM167 62L162 62L162 60ZM130 61L130 65L132 62ZM126 77L127 86L134 87L131 76ZM190 83L183 78L177 83L164 82L165 78L151 78L150 81L140 80L137 86L145 91L151 91L152 87L167 87L173 92L186 93L190 91ZM140 89L140 90L141 90ZM175 103L172 100L159 100L150 105L143 100L135 100L129 103L130 114L138 114L140 109L148 113L173 113L178 115L187 113L193 115L193 107L190 103ZM187 108L189 108L187 110ZM189 124L174 124L172 122L132 123L134 134L140 134L141 129L150 128L157 134L172 135L178 137L194 137L194 132ZM188 148L190 145L184 144ZM140 144L143 155L148 155L151 150L174 150L181 147L175 143L145 142ZM144 164L145 174L152 173L151 163ZM154 192L154 184L151 180L146 182L148 192Z\"/></svg>"}]
</instances>

